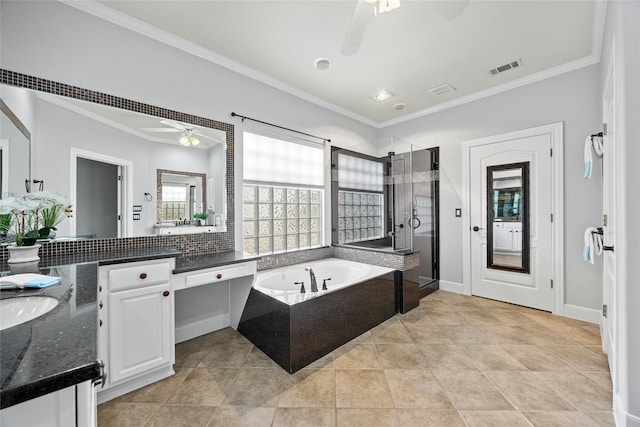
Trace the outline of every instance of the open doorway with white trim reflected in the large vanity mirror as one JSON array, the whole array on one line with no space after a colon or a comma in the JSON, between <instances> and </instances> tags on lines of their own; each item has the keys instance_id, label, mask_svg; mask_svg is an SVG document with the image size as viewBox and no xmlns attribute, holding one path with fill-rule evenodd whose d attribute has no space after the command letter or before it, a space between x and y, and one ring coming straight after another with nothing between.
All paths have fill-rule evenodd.
<instances>
[{"instance_id":1,"label":"open doorway with white trim reflected in the large vanity mirror","mask_svg":"<svg viewBox=\"0 0 640 427\"><path fill-rule=\"evenodd\" d=\"M71 148L70 234L109 239L130 237L133 164L128 160Z\"/></svg>"}]
</instances>

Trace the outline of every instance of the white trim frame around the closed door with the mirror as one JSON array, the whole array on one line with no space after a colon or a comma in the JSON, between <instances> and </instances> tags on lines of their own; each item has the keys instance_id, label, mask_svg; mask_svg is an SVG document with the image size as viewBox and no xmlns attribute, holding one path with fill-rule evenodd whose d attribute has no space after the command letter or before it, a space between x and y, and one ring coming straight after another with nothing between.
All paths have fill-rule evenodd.
<instances>
[{"instance_id":1,"label":"white trim frame around the closed door with the mirror","mask_svg":"<svg viewBox=\"0 0 640 427\"><path fill-rule=\"evenodd\" d=\"M471 295L471 224L469 221L471 206L471 185L469 167L471 149L482 145L528 138L537 135L549 135L551 140L551 262L553 276L553 311L563 314L564 308L564 180L563 180L563 122L508 132L484 138L472 139L462 143L462 283L466 295Z\"/></svg>"}]
</instances>

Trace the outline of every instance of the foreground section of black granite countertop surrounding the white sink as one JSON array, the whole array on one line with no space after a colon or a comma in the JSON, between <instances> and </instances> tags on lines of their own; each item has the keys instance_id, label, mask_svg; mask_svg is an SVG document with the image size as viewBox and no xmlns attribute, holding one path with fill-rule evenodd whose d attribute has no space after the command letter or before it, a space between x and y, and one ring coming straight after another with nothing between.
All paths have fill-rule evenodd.
<instances>
[{"instance_id":1,"label":"foreground section of black granite countertop surrounding the white sink","mask_svg":"<svg viewBox=\"0 0 640 427\"><path fill-rule=\"evenodd\" d=\"M0 299L48 296L58 300L50 312L0 331L0 408L100 376L98 264L43 267L38 272L62 281L44 289L0 292Z\"/></svg>"}]
</instances>

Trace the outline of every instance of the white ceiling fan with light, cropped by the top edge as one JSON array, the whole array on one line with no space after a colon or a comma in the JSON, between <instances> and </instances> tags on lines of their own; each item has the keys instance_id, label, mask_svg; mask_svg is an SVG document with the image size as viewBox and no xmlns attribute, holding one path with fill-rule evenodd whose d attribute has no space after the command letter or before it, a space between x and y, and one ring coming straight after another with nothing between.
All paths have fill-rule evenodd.
<instances>
[{"instance_id":1,"label":"white ceiling fan with light, cropped by the top edge","mask_svg":"<svg viewBox=\"0 0 640 427\"><path fill-rule=\"evenodd\" d=\"M426 3L450 21L466 9L469 0L434 0ZM340 53L346 56L356 53L360 49L371 20L380 13L389 12L398 7L400 7L400 0L357 0Z\"/></svg>"}]
</instances>

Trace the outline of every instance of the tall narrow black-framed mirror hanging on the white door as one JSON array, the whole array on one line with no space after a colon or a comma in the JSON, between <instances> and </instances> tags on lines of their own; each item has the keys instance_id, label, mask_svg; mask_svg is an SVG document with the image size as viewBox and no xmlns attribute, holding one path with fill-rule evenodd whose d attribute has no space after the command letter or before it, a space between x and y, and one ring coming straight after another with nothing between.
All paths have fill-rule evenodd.
<instances>
[{"instance_id":1,"label":"tall narrow black-framed mirror hanging on the white door","mask_svg":"<svg viewBox=\"0 0 640 427\"><path fill-rule=\"evenodd\" d=\"M529 163L487 167L487 267L529 272Z\"/></svg>"}]
</instances>

